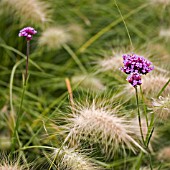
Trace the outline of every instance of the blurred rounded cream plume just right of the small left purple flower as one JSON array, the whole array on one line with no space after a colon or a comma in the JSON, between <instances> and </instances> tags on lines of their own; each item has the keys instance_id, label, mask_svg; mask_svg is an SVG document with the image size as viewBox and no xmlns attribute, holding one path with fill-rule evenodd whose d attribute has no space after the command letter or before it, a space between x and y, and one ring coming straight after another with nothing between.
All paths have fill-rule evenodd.
<instances>
[{"instance_id":1,"label":"blurred rounded cream plume just right of the small left purple flower","mask_svg":"<svg viewBox=\"0 0 170 170\"><path fill-rule=\"evenodd\" d=\"M62 45L70 42L71 35L63 27L47 28L39 39L39 45L46 47L49 50L56 50Z\"/></svg>"}]
</instances>

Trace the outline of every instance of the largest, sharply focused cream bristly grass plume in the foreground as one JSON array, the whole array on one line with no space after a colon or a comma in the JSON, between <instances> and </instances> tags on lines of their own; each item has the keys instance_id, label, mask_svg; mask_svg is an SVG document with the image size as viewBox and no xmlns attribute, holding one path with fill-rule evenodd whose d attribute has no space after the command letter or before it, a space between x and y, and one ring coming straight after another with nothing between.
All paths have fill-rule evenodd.
<instances>
[{"instance_id":1,"label":"largest, sharply focused cream bristly grass plume in the foreground","mask_svg":"<svg viewBox=\"0 0 170 170\"><path fill-rule=\"evenodd\" d=\"M88 141L92 146L98 144L106 159L113 158L116 151L144 151L136 141L132 121L116 113L116 109L109 109L109 106L95 101L87 106L77 105L65 125L69 132L69 145L81 146L82 141Z\"/></svg>"}]
</instances>

